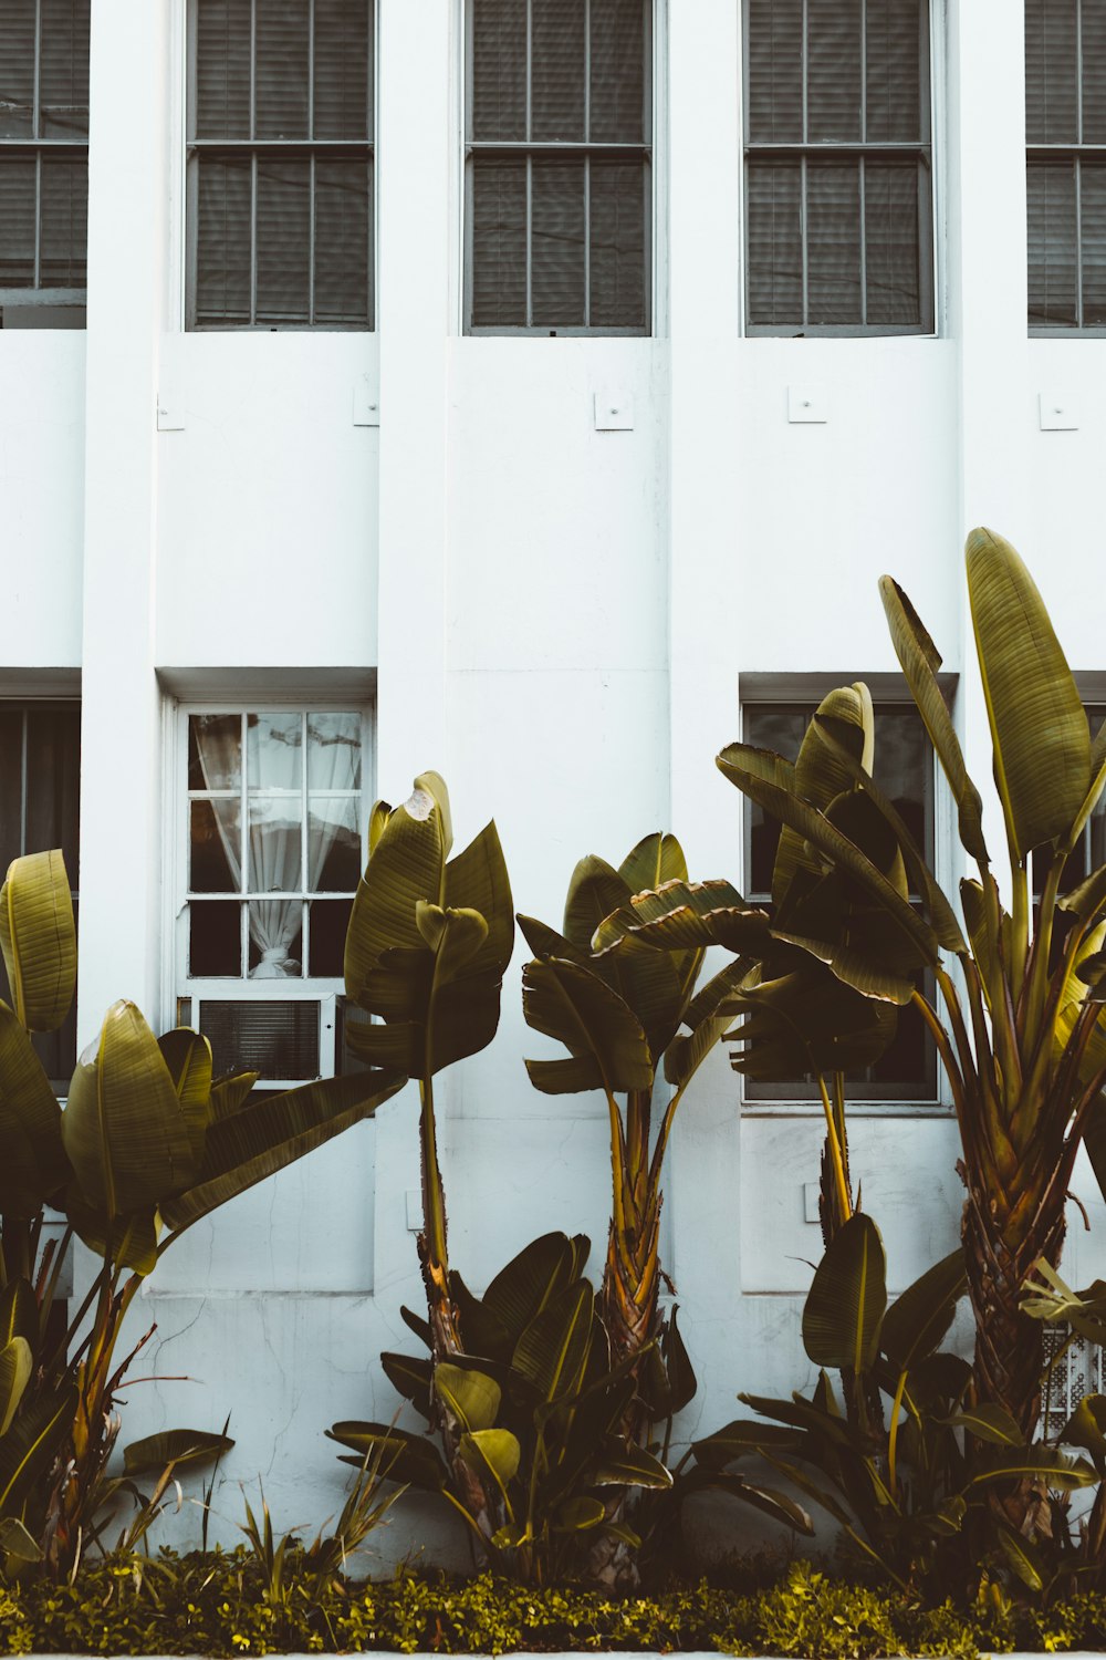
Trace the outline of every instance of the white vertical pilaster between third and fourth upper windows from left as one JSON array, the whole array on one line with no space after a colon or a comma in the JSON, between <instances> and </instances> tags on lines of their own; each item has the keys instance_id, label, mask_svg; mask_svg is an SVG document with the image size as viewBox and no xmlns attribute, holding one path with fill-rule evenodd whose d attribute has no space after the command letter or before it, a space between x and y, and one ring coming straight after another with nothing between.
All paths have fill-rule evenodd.
<instances>
[{"instance_id":1,"label":"white vertical pilaster between third and fourth upper windows from left","mask_svg":"<svg viewBox=\"0 0 1106 1660\"><path fill-rule=\"evenodd\" d=\"M733 0L672 0L672 825L695 876L735 876L738 865L740 798L713 757L738 735L740 71ZM680 1109L668 1177L685 1333L700 1379L715 1378L721 1391L718 1403L703 1399L708 1416L733 1391L726 1321L740 1286L738 1130L736 1079L720 1051Z\"/></svg>"}]
</instances>

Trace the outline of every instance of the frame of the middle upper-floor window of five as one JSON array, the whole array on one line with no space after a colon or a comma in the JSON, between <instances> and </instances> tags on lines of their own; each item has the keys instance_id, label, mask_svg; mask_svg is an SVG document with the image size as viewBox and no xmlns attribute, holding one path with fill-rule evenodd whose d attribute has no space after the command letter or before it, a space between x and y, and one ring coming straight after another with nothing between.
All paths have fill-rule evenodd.
<instances>
[{"instance_id":1,"label":"frame of the middle upper-floor window of five","mask_svg":"<svg viewBox=\"0 0 1106 1660\"><path fill-rule=\"evenodd\" d=\"M532 35L532 3L534 0L526 0L527 15L527 42ZM590 80L590 8L599 0L584 0L584 73L585 88ZM657 334L657 226L658 226L658 98L660 98L660 76L658 76L658 42L663 40L662 28L662 0L642 0L643 13L643 58L645 58L645 78L643 78L643 96L645 96L645 126L648 129L648 141L640 144L633 143L592 143L567 141L567 139L474 139L471 133L471 121L474 113L474 93L473 93L473 76L474 76L474 30L476 30L476 3L474 0L461 0L461 40L463 40L463 61L461 61L461 201L463 201L463 226L461 226L461 332L473 335L476 339L623 339L623 340L643 340L652 339ZM531 60L526 65L526 91L527 91L527 124L529 124L529 90L531 90ZM585 91L585 108L587 108L587 91ZM584 156L590 154L609 154L609 156L638 156L643 163L642 168L642 189L645 198L645 236L643 236L643 295L645 295L645 322L642 327L618 327L618 325L597 325L590 322L584 324L559 324L551 329L547 324L474 324L473 322L473 161L478 154L501 154L501 156L526 156L527 161L534 154L541 156ZM529 168L527 168L529 174ZM587 214L587 193L585 193L585 214ZM529 178L527 178L527 203L529 203ZM584 307L585 314L590 310L592 294L590 294L590 221L585 219L585 264L584 264ZM527 254L526 254L526 295L527 310L531 310L531 290L532 290L532 257L531 257L531 227L527 212Z\"/></svg>"}]
</instances>

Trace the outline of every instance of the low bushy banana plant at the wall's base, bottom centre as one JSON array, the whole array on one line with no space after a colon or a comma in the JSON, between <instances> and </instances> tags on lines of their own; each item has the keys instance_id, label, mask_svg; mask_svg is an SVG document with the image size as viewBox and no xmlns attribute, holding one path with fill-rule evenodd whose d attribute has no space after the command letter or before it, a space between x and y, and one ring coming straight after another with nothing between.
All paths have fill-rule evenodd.
<instances>
[{"instance_id":1,"label":"low bushy banana plant at the wall's base, bottom centre","mask_svg":"<svg viewBox=\"0 0 1106 1660\"><path fill-rule=\"evenodd\" d=\"M429 1438L381 1423L328 1431L353 1449L347 1462L370 1451L390 1454L396 1481L439 1492L461 1514L483 1560L531 1584L587 1572L595 1539L637 1549L640 1539L614 1514L612 1496L672 1487L658 1456L667 1438L663 1449L650 1451L625 1434L640 1356L614 1358L600 1300L582 1277L589 1248L584 1235L542 1235L484 1296L454 1273L451 1295L469 1353L436 1360L429 1325L403 1311L429 1356L381 1361L400 1394L426 1416ZM695 1393L678 1335L675 1345L673 1413Z\"/></svg>"}]
</instances>

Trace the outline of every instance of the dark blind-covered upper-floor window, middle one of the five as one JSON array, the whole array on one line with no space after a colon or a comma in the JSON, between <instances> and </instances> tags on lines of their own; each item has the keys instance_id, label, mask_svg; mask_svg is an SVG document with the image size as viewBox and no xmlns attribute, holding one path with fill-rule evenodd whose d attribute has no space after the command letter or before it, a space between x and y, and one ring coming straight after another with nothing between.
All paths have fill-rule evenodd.
<instances>
[{"instance_id":1,"label":"dark blind-covered upper-floor window, middle one of the five","mask_svg":"<svg viewBox=\"0 0 1106 1660\"><path fill-rule=\"evenodd\" d=\"M469 0L466 325L648 334L652 0Z\"/></svg>"}]
</instances>

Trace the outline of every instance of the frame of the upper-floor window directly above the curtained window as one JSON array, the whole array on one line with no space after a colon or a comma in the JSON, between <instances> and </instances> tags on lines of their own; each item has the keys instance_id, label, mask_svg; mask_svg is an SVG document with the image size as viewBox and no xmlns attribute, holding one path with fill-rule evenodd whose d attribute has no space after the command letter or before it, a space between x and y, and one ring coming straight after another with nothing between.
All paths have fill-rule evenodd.
<instances>
[{"instance_id":1,"label":"frame of the upper-floor window directly above the curtained window","mask_svg":"<svg viewBox=\"0 0 1106 1660\"><path fill-rule=\"evenodd\" d=\"M257 0L250 5L250 105L254 101L254 81L257 75ZM371 86L371 121L365 139L255 139L255 138L197 138L196 134L196 88L197 88L197 0L184 0L184 51L182 51L182 249L184 249L184 330L187 334L376 334L376 297L378 272L376 249L380 231L380 189L376 179L376 151L380 128L380 0L365 0L368 13L368 85ZM315 7L310 5L310 42L313 51ZM308 110L313 106L313 80L308 81ZM197 322L196 320L196 286L197 286L197 236L199 236L199 168L202 153L214 158L226 154L250 154L250 312L252 322ZM363 154L368 166L368 322L257 322L257 156L259 153L277 156L307 156L317 153L332 156ZM310 242L308 242L308 310L315 307L315 174L312 166L310 189Z\"/></svg>"}]
</instances>

